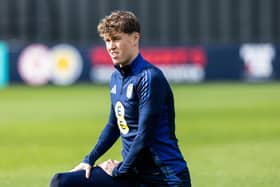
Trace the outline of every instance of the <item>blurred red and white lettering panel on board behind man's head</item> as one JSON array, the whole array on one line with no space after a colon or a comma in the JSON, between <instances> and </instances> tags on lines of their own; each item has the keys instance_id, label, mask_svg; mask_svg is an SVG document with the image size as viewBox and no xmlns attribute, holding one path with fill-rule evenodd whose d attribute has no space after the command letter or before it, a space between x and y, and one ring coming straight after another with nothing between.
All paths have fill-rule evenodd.
<instances>
[{"instance_id":1,"label":"blurred red and white lettering panel on board behind man's head","mask_svg":"<svg viewBox=\"0 0 280 187\"><path fill-rule=\"evenodd\" d=\"M203 47L146 47L140 49L143 57L158 66L171 82L200 82L204 79L207 62ZM111 59L104 47L90 50L91 79L108 82L113 71Z\"/></svg>"}]
</instances>

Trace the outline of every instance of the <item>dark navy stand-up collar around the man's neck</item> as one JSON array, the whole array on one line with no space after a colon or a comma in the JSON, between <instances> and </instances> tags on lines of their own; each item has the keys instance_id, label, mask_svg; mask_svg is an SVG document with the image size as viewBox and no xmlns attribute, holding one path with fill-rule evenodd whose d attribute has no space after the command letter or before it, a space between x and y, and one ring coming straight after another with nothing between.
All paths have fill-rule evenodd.
<instances>
[{"instance_id":1,"label":"dark navy stand-up collar around the man's neck","mask_svg":"<svg viewBox=\"0 0 280 187\"><path fill-rule=\"evenodd\" d=\"M139 53L137 57L129 64L123 67L115 65L115 68L121 73L122 76L126 77L131 74L135 74L141 71L144 59Z\"/></svg>"}]
</instances>

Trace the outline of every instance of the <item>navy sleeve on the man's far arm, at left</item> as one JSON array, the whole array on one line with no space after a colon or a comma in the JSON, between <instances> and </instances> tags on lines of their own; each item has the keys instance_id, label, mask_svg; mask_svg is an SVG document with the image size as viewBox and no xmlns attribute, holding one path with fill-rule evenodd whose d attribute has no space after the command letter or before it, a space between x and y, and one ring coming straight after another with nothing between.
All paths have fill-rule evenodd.
<instances>
[{"instance_id":1,"label":"navy sleeve on the man's far arm, at left","mask_svg":"<svg viewBox=\"0 0 280 187\"><path fill-rule=\"evenodd\" d=\"M83 160L84 163L93 165L95 161L102 156L112 145L117 141L120 136L120 131L116 125L116 118L113 107L111 106L110 117L108 123L104 127L99 136L97 144L94 146L89 155Z\"/></svg>"}]
</instances>

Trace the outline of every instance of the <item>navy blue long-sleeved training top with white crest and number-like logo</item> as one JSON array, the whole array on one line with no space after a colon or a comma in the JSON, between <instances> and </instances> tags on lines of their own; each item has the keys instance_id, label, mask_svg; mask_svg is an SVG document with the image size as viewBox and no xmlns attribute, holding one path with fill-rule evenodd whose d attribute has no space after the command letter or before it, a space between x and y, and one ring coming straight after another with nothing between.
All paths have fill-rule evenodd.
<instances>
[{"instance_id":1,"label":"navy blue long-sleeved training top with white crest and number-like logo","mask_svg":"<svg viewBox=\"0 0 280 187\"><path fill-rule=\"evenodd\" d=\"M109 120L84 162L93 165L121 137L123 162L113 177L154 168L176 175L187 166L175 136L174 100L167 80L141 54L130 65L115 67Z\"/></svg>"}]
</instances>

